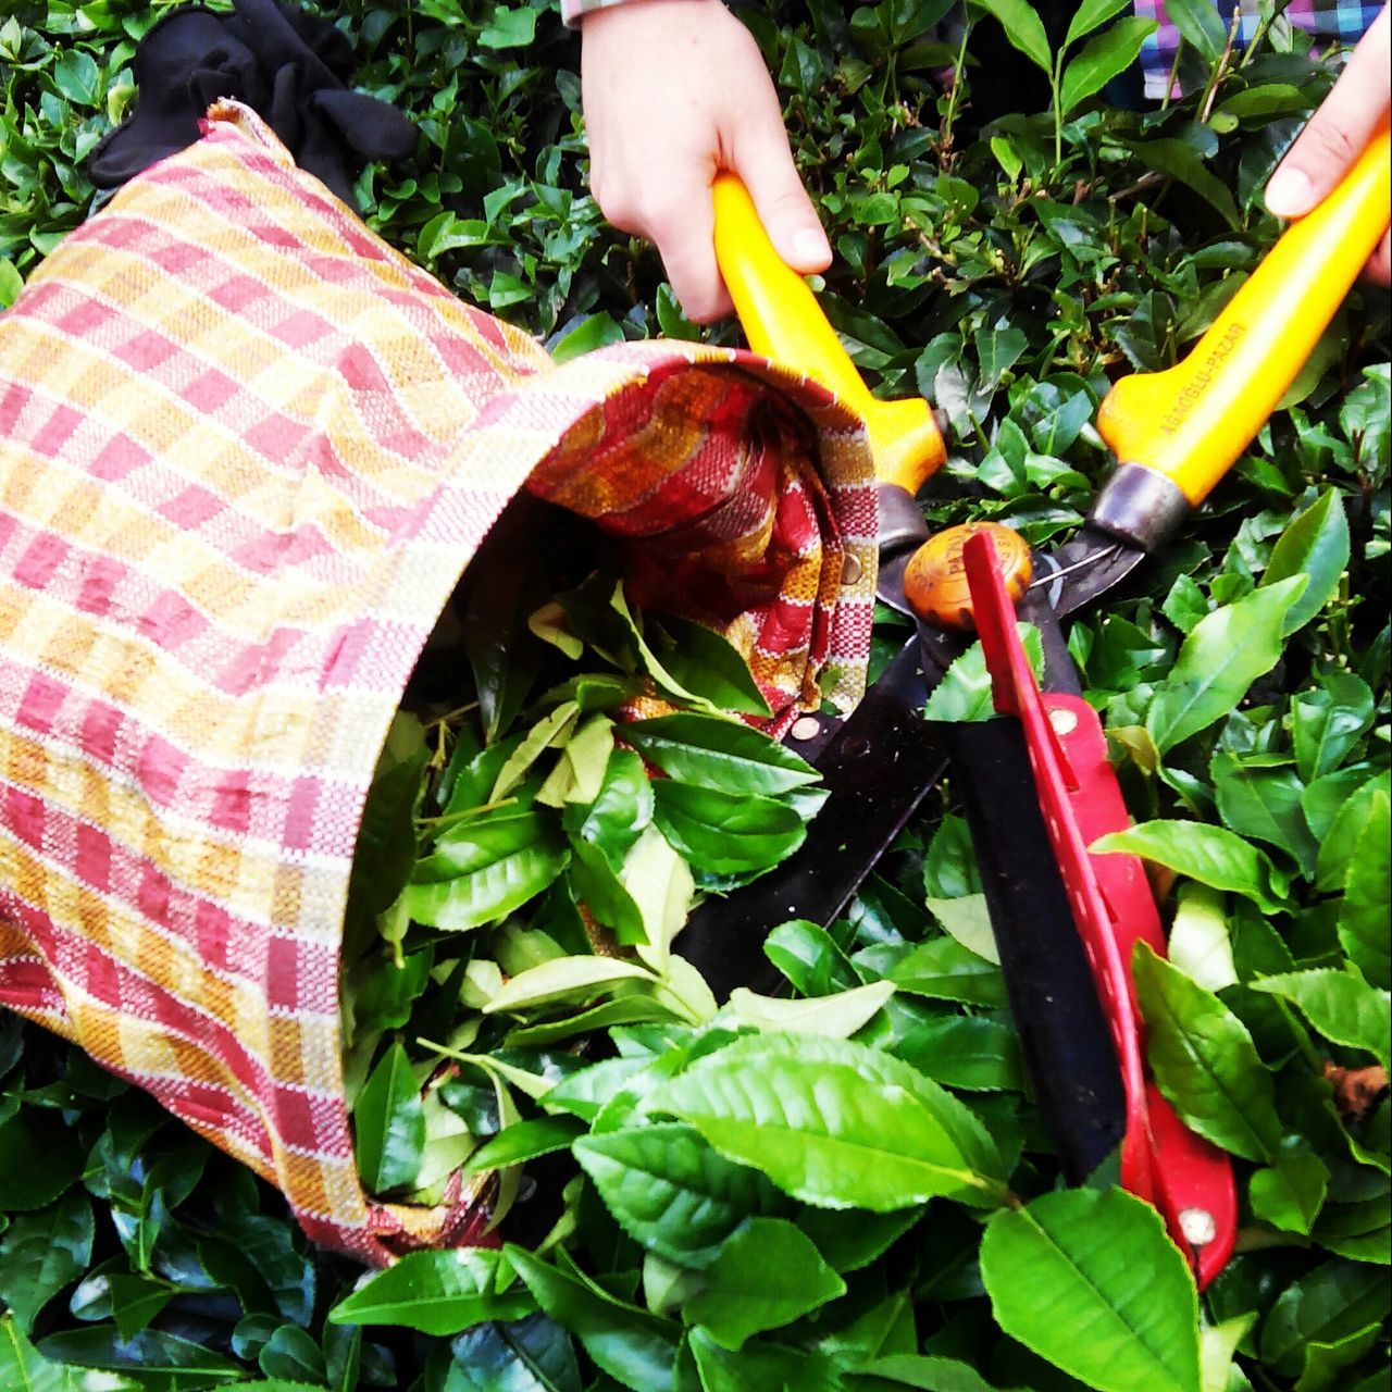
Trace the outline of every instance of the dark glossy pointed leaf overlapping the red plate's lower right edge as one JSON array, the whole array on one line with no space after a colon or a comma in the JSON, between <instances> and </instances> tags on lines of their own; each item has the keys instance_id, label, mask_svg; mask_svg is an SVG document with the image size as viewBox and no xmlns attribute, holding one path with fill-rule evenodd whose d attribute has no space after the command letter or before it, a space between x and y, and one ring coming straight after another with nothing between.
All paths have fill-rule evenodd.
<instances>
[{"instance_id":1,"label":"dark glossy pointed leaf overlapping the red plate's lower right edge","mask_svg":"<svg viewBox=\"0 0 1392 1392\"><path fill-rule=\"evenodd\" d=\"M1147 944L1132 963L1155 1082L1180 1118L1215 1146L1274 1161L1281 1146L1271 1073L1246 1026Z\"/></svg>"}]
</instances>

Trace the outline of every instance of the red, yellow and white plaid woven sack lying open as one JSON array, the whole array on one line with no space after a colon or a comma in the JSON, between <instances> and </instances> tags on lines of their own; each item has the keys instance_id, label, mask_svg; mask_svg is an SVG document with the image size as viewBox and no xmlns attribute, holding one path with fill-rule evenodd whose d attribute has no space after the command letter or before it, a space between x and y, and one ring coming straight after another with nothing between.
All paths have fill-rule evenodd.
<instances>
[{"instance_id":1,"label":"red, yellow and white plaid woven sack lying open","mask_svg":"<svg viewBox=\"0 0 1392 1392\"><path fill-rule=\"evenodd\" d=\"M0 317L0 1004L370 1263L487 1221L458 1179L430 1210L363 1194L338 942L387 727L523 486L597 519L650 601L699 597L775 728L857 697L877 514L849 415L693 345L553 366L234 103Z\"/></svg>"}]
</instances>

